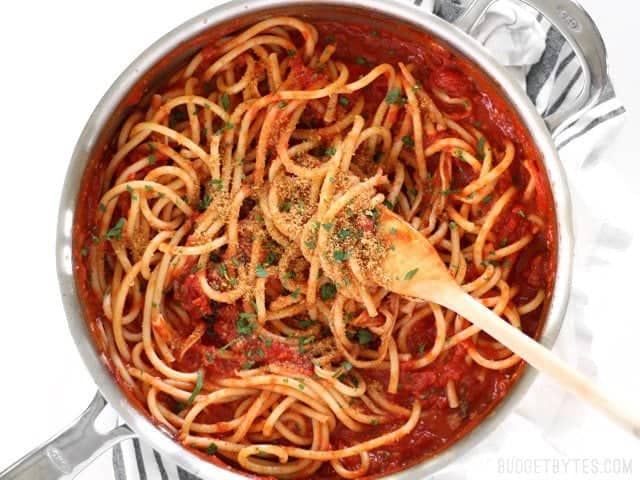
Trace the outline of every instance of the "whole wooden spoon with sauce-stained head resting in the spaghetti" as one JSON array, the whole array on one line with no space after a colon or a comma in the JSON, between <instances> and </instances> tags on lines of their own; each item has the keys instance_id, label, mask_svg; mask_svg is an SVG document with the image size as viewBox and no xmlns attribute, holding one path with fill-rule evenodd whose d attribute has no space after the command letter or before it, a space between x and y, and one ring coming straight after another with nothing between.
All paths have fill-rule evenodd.
<instances>
[{"instance_id":1,"label":"whole wooden spoon with sauce-stained head resting in the spaghetti","mask_svg":"<svg viewBox=\"0 0 640 480\"><path fill-rule=\"evenodd\" d=\"M467 294L450 275L440 255L429 241L403 219L381 208L380 238L393 244L388 249L373 280L385 288L409 297L440 304L475 324L484 332L544 372L577 397L600 409L640 438L640 417L615 402L550 350L511 326Z\"/></svg>"}]
</instances>

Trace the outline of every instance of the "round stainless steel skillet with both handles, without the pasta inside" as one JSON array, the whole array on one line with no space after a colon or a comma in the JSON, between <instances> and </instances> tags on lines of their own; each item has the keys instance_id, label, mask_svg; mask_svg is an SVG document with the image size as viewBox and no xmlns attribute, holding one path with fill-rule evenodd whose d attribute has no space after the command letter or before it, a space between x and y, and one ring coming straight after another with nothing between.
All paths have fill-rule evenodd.
<instances>
[{"instance_id":1,"label":"round stainless steel skillet with both handles, without the pasta inside","mask_svg":"<svg viewBox=\"0 0 640 480\"><path fill-rule=\"evenodd\" d=\"M125 114L121 102L138 81L147 72L154 70L151 84L154 81L161 82L169 72L197 50L197 39L209 29L226 28L229 25L241 28L267 15L299 15L310 20L392 20L398 25L398 31L402 31L401 27L404 25L408 29L424 31L449 45L474 63L498 87L529 130L543 158L553 192L557 216L558 264L553 297L540 338L544 345L550 347L558 335L565 313L573 255L571 205L554 139L563 132L568 134L572 122L605 95L609 84L606 51L593 21L573 1L522 0L546 16L566 37L576 51L585 77L585 87L576 102L569 109L543 119L509 73L466 33L473 29L495 1L471 1L464 14L452 25L415 8L408 1L401 0L240 0L213 8L184 23L140 55L107 91L80 135L67 170L59 210L56 256L60 290L69 330L85 365L93 375L99 393L74 424L11 465L0 474L0 478L72 478L105 450L122 440L136 436L186 470L204 478L241 478L240 474L207 462L182 448L134 408L120 390L95 346L83 315L73 276L72 227L85 168L96 148L99 148L120 124ZM170 57L171 53L176 52L185 42L190 43L190 48L183 50L180 55ZM171 60L165 61L162 67L158 68L160 61L169 57ZM526 369L509 395L465 437L444 452L412 468L391 474L388 478L408 480L426 477L459 458L486 437L513 410L534 378L535 372ZM99 433L94 427L94 421L107 401L125 420L126 425L107 433Z\"/></svg>"}]
</instances>

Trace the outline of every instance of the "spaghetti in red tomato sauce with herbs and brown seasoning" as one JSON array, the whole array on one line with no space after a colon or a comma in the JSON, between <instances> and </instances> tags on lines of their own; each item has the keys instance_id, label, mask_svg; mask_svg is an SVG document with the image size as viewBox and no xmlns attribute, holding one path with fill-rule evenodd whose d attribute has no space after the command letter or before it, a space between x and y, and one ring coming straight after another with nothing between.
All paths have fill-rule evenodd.
<instances>
[{"instance_id":1,"label":"spaghetti in red tomato sauce with herbs and brown seasoning","mask_svg":"<svg viewBox=\"0 0 640 480\"><path fill-rule=\"evenodd\" d=\"M246 472L358 478L445 448L505 394L518 357L368 281L388 208L538 331L547 180L471 67L433 40L274 17L147 98L86 175L75 248L105 357L157 425Z\"/></svg>"}]
</instances>

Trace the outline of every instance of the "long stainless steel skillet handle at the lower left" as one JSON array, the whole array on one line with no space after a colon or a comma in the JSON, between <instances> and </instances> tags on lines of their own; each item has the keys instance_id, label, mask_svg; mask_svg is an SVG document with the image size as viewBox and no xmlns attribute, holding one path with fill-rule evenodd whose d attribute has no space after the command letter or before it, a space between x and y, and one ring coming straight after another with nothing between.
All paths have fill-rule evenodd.
<instances>
[{"instance_id":1,"label":"long stainless steel skillet handle at the lower left","mask_svg":"<svg viewBox=\"0 0 640 480\"><path fill-rule=\"evenodd\" d=\"M74 478L104 451L135 436L126 425L100 433L95 420L107 402L96 393L91 404L66 430L0 472L1 480Z\"/></svg>"}]
</instances>

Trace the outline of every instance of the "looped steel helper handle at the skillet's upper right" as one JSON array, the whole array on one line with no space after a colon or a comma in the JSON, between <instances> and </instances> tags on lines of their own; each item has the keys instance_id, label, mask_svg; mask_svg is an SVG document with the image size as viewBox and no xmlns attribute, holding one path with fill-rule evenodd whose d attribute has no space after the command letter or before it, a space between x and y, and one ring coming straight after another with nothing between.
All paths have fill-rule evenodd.
<instances>
[{"instance_id":1,"label":"looped steel helper handle at the skillet's upper right","mask_svg":"<svg viewBox=\"0 0 640 480\"><path fill-rule=\"evenodd\" d=\"M497 0L470 0L454 25L471 34L489 7ZM582 67L584 87L568 108L544 120L554 140L582 114L606 99L611 86L607 50L602 35L589 14L573 0L520 0L544 15L565 37Z\"/></svg>"}]
</instances>

